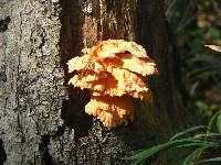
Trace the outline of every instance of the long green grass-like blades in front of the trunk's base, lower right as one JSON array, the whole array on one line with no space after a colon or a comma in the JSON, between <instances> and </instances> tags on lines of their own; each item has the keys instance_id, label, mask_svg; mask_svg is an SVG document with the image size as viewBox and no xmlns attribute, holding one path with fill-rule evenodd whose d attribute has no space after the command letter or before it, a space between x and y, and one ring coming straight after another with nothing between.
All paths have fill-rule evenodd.
<instances>
[{"instance_id":1,"label":"long green grass-like blades in front of the trunk's base, lower right","mask_svg":"<svg viewBox=\"0 0 221 165\"><path fill-rule=\"evenodd\" d=\"M214 131L213 131L214 130ZM194 135L191 135L193 134ZM209 162L221 162L220 157L202 158L203 154L209 150L221 148L221 110L218 111L209 121L208 127L198 125L177 133L166 143L155 145L147 150L139 151L137 154L129 157L124 157L126 161L134 161L134 164L144 164L144 162L158 154L159 152L187 148L192 150L185 160L183 165L198 165Z\"/></svg>"}]
</instances>

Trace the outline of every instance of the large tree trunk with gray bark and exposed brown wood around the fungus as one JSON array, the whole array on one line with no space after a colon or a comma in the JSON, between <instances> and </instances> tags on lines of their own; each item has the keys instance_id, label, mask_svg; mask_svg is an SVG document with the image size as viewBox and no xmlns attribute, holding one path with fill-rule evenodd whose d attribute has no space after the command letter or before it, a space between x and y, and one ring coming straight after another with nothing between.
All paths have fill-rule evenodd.
<instances>
[{"instance_id":1,"label":"large tree trunk with gray bark and exposed brown wood around the fungus","mask_svg":"<svg viewBox=\"0 0 221 165\"><path fill-rule=\"evenodd\" d=\"M2 0L0 164L120 164L186 125L168 34L162 0ZM107 38L136 41L159 70L154 103L136 100L134 122L116 129L84 112L86 90L66 86L66 62Z\"/></svg>"}]
</instances>

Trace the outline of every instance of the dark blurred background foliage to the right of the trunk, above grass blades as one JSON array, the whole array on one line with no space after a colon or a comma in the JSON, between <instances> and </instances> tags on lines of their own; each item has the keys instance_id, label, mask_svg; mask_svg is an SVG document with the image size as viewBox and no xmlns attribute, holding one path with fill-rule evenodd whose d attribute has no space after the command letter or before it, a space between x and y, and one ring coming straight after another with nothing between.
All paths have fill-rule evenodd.
<instances>
[{"instance_id":1,"label":"dark blurred background foliage to the right of the trunk, above grass blades","mask_svg":"<svg viewBox=\"0 0 221 165\"><path fill-rule=\"evenodd\" d=\"M221 105L221 54L204 45L221 45L220 0L166 0L166 16L176 35L181 58L181 79L190 109L199 121Z\"/></svg>"}]
</instances>

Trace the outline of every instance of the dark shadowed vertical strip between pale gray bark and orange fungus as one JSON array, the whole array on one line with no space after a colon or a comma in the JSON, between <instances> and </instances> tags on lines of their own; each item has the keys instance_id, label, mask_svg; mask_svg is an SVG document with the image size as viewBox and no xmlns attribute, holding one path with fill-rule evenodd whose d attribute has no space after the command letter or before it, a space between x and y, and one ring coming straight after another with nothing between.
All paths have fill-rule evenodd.
<instances>
[{"instance_id":1,"label":"dark shadowed vertical strip between pale gray bark and orange fungus","mask_svg":"<svg viewBox=\"0 0 221 165\"><path fill-rule=\"evenodd\" d=\"M67 86L69 79L75 74L67 73L67 61L81 54L82 46L82 15L78 1L61 1L62 13L61 35L60 35L60 53L61 65L63 66L65 79L64 86L67 88L69 100L63 101L61 118L64 124L75 130L75 138L80 139L88 134L92 124L92 118L84 111L85 105L90 101L87 90L80 90ZM74 18L74 19L73 19Z\"/></svg>"}]
</instances>

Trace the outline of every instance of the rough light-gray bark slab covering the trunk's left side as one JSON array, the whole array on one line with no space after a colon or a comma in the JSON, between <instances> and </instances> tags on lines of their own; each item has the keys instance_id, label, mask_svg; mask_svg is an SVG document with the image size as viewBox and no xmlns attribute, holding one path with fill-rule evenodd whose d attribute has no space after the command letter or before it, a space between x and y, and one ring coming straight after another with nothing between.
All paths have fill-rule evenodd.
<instances>
[{"instance_id":1,"label":"rough light-gray bark slab covering the trunk's left side","mask_svg":"<svg viewBox=\"0 0 221 165\"><path fill-rule=\"evenodd\" d=\"M55 2L0 1L0 139L6 164L41 164L65 97Z\"/></svg>"}]
</instances>

